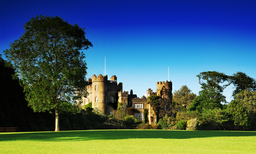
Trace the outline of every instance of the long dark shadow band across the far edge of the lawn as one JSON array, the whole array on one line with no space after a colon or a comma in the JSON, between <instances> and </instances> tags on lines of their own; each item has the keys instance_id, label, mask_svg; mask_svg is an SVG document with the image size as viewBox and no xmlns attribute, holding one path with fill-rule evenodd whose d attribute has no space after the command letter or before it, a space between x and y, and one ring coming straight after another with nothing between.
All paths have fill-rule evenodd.
<instances>
[{"instance_id":1,"label":"long dark shadow band across the far edge of the lawn","mask_svg":"<svg viewBox=\"0 0 256 154\"><path fill-rule=\"evenodd\" d=\"M203 137L246 137L256 136L256 132L231 131L167 131L167 130L97 130L66 132L21 132L1 133L0 141L34 140L46 142L118 140L129 138L187 139Z\"/></svg>"}]
</instances>

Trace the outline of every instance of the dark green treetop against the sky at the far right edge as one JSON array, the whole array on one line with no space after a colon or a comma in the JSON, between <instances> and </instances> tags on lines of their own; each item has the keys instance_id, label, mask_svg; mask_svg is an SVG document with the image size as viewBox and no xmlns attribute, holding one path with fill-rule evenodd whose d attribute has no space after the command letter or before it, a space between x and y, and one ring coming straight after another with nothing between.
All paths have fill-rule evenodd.
<instances>
[{"instance_id":1,"label":"dark green treetop against the sky at the far right edge","mask_svg":"<svg viewBox=\"0 0 256 154\"><path fill-rule=\"evenodd\" d=\"M235 88L232 92L232 96L234 96L234 98L236 98L236 95L243 90L256 91L256 80L243 72L234 73L231 76L231 79Z\"/></svg>"}]
</instances>

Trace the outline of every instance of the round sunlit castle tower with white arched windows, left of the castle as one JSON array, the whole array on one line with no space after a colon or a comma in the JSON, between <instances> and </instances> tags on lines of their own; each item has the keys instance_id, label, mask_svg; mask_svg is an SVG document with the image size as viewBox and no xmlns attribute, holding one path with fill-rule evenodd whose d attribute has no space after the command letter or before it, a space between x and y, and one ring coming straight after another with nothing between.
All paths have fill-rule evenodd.
<instances>
[{"instance_id":1,"label":"round sunlit castle tower with white arched windows, left of the castle","mask_svg":"<svg viewBox=\"0 0 256 154\"><path fill-rule=\"evenodd\" d=\"M107 112L107 81L108 76L93 75L92 80L92 107Z\"/></svg>"}]
</instances>

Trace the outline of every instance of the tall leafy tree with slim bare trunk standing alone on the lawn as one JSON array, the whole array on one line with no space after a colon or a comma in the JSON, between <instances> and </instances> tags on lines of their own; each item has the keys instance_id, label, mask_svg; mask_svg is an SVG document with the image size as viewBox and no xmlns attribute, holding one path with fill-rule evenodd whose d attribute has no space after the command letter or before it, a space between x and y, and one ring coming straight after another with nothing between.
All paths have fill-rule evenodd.
<instances>
[{"instance_id":1,"label":"tall leafy tree with slim bare trunk standing alone on the lawn","mask_svg":"<svg viewBox=\"0 0 256 154\"><path fill-rule=\"evenodd\" d=\"M24 25L25 33L4 51L9 65L22 81L28 105L35 112L55 110L55 131L59 112L70 111L86 96L86 50L93 45L85 28L60 17L36 16Z\"/></svg>"}]
</instances>

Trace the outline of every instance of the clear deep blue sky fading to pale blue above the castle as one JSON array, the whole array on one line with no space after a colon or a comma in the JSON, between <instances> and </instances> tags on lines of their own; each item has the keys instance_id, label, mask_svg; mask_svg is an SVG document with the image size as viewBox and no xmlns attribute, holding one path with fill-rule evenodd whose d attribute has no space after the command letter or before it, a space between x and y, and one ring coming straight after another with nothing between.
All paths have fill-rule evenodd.
<instances>
[{"instance_id":1,"label":"clear deep blue sky fading to pale blue above the castle","mask_svg":"<svg viewBox=\"0 0 256 154\"><path fill-rule=\"evenodd\" d=\"M173 91L198 93L198 75L244 72L256 78L255 0L10 0L0 3L0 54L36 15L60 16L85 27L93 47L85 51L87 79L116 75L123 90L138 96L157 81ZM5 56L2 54L5 59ZM232 85L224 90L230 101Z\"/></svg>"}]
</instances>

